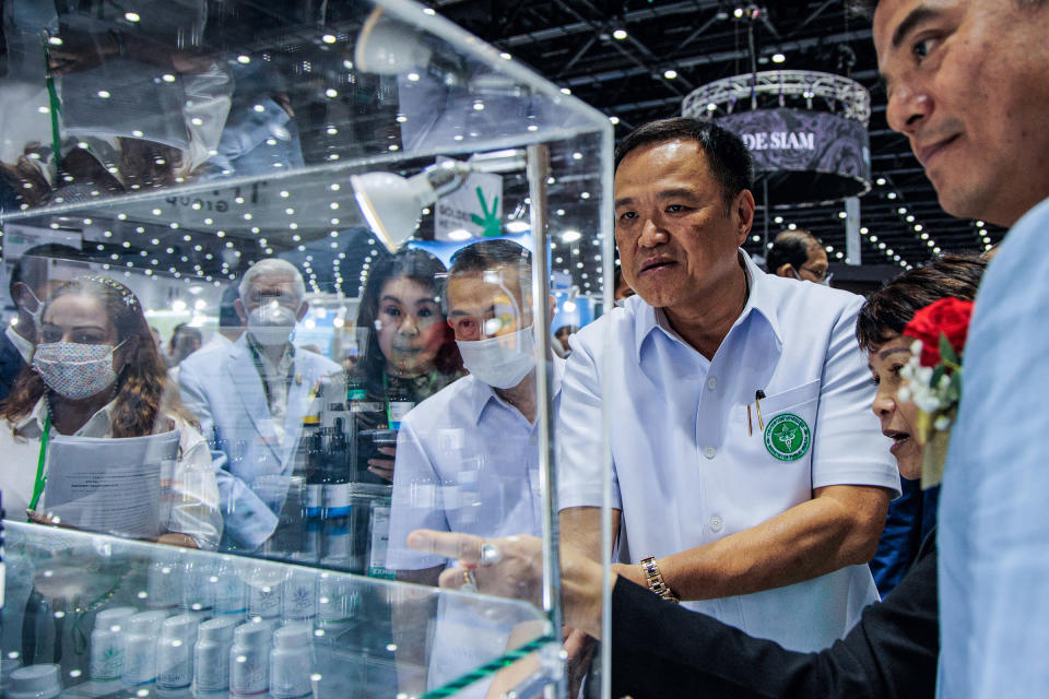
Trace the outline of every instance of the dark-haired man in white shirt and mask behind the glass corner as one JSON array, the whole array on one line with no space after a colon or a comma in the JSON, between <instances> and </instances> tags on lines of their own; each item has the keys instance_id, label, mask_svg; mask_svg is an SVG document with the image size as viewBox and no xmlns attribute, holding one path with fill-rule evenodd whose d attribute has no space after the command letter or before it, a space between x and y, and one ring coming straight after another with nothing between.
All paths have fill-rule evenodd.
<instances>
[{"instance_id":1,"label":"dark-haired man in white shirt and mask behind the glass corner","mask_svg":"<svg viewBox=\"0 0 1049 699\"><path fill-rule=\"evenodd\" d=\"M491 537L542 532L530 287L531 256L516 242L478 242L451 259L448 323L470 375L420 403L401 424L386 559L400 580L436 585L448 562L408 547L415 529ZM556 406L564 360L552 362ZM433 618L434 650L426 663L420 635ZM453 603L436 617L409 605L394 619L400 689L409 694L496 657L509 632ZM428 665L425 683L404 672L411 664Z\"/></svg>"}]
</instances>

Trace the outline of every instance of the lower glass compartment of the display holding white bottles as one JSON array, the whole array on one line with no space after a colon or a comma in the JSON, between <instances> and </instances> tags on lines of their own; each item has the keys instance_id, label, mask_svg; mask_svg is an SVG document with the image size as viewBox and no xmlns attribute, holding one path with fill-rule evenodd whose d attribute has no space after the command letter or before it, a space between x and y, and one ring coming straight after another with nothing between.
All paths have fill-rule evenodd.
<instances>
[{"instance_id":1,"label":"lower glass compartment of the display holding white bottles","mask_svg":"<svg viewBox=\"0 0 1049 699\"><path fill-rule=\"evenodd\" d=\"M8 522L3 657L9 697L386 697L433 645L384 632L397 605L458 603L478 663L428 696L490 677L532 652L556 657L552 627L512 600L420 588L239 556ZM523 630L522 630L523 629ZM398 651L401 651L400 653ZM410 651L421 662L403 661Z\"/></svg>"}]
</instances>

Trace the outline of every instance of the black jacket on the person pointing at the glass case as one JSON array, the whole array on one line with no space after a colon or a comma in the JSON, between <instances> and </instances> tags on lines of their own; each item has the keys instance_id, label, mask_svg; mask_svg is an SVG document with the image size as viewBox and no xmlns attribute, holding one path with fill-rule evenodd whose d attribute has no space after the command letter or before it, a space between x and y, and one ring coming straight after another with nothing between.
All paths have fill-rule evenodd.
<instances>
[{"instance_id":1,"label":"black jacket on the person pointing at the glass case","mask_svg":"<svg viewBox=\"0 0 1049 699\"><path fill-rule=\"evenodd\" d=\"M818 653L783 650L621 577L612 591L612 696L933 697L939 633L935 530L893 593Z\"/></svg>"}]
</instances>

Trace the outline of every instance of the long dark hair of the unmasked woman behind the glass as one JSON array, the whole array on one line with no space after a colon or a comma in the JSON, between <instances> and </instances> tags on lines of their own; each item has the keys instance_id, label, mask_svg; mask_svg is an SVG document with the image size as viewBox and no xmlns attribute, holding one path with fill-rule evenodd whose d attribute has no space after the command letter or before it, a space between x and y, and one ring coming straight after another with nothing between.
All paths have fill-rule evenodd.
<instances>
[{"instance_id":1,"label":"long dark hair of the unmasked woman behind the glass","mask_svg":"<svg viewBox=\"0 0 1049 699\"><path fill-rule=\"evenodd\" d=\"M434 298L444 298L448 270L429 252L412 249L400 250L396 254L381 259L372 270L357 309L357 328L367 332L367 343L358 370L368 382L369 391L374 381L378 381L381 386L382 374L386 371L386 356L379 348L379 337L375 330L382 286L388 281L401 276L431 291ZM440 324L444 329L444 339L434 359L434 367L445 375L459 374L462 371L462 357L459 356L455 335L448 323L444 322L444 318L440 319Z\"/></svg>"}]
</instances>

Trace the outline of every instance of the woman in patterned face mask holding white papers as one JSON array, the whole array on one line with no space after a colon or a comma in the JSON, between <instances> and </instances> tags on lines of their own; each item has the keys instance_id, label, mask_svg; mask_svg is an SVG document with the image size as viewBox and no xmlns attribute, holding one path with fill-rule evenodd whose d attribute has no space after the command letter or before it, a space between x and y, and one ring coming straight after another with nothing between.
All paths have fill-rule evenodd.
<instances>
[{"instance_id":1,"label":"woman in patterned face mask holding white papers","mask_svg":"<svg viewBox=\"0 0 1049 699\"><path fill-rule=\"evenodd\" d=\"M158 541L214 549L222 517L211 454L192 418L165 395L165 374L128 287L103 276L59 287L44 308L32 364L0 404L0 490L8 511L46 511L43 484L52 465L45 434L123 438L178 429L178 460L162 475L172 507Z\"/></svg>"}]
</instances>

